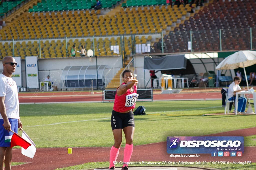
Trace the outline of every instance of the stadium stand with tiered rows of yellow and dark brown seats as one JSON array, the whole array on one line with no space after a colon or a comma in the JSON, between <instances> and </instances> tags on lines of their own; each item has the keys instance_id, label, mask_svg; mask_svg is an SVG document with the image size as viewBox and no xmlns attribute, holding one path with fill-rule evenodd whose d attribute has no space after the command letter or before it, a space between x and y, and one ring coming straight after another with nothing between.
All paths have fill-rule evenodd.
<instances>
[{"instance_id":1,"label":"stadium stand with tiered rows of yellow and dark brown seats","mask_svg":"<svg viewBox=\"0 0 256 170\"><path fill-rule=\"evenodd\" d=\"M65 2L68 4L67 7L80 4L87 4L88 7L88 3L93 4L93 1ZM12 43L8 43L11 40L15 40L16 43L15 56L24 58L39 55L41 52L41 57L52 58L69 57L69 52L66 52L66 37L69 51L73 44L77 49L81 45L84 45L86 50L93 49L92 38L89 36L96 36L97 38L94 39L95 54L109 56L118 55L110 49L111 46L118 45L120 50L121 34L125 35L123 40L125 55L131 55L133 41L134 44L150 43L150 53L162 53L162 49L159 48L161 39L152 38L152 35L162 32L165 34L164 53L190 51L187 47L187 42L190 41L190 31L192 32L193 51L220 50L220 29L222 50L250 49L249 27L253 28L252 35L256 35L254 12L256 3L253 0L213 1L208 6L195 10L194 17L191 16L193 14L190 13L189 4L180 5L178 8L177 5L173 7L166 5L166 1L155 0L146 3L157 2L157 4L150 6L141 4L141 6L134 7L135 2L136 5L140 5L140 2L144 3L139 0L126 1L126 4L133 3L131 8L117 7L116 9L119 10L115 12L115 15L102 15L101 10L66 9L62 0L42 1L33 6L33 12L24 12L9 26L0 30L0 55L13 54ZM111 6L115 3L118 1L111 1ZM195 5L192 4L192 6ZM62 8L51 10L56 6ZM35 12L34 9L47 10L47 12ZM29 11L32 10L29 9ZM134 40L131 34L136 35ZM39 49L39 38L41 38L41 49ZM256 45L256 38L253 37L252 43ZM77 54L77 56L80 55Z\"/></svg>"}]
</instances>

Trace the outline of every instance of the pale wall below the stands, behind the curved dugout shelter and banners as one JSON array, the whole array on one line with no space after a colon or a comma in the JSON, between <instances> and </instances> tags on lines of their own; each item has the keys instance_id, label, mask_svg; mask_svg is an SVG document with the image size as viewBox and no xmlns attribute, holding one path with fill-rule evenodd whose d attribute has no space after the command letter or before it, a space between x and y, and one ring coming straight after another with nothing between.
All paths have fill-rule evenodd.
<instances>
[{"instance_id":1,"label":"pale wall below the stands, behind the curved dugout shelter and banners","mask_svg":"<svg viewBox=\"0 0 256 170\"><path fill-rule=\"evenodd\" d=\"M200 63L198 59L190 59L193 64L196 73L205 72L204 66ZM203 59L206 64L207 70L212 70L217 73L214 69L216 65L212 63L211 59ZM39 67L39 82L44 81L47 75L50 75L51 79L54 81L54 85L58 89L62 88L63 83L61 82L61 74L65 67L67 66L95 66L96 58L95 57L69 57L69 58L49 58L49 59L38 59ZM106 84L108 84L115 74L122 68L122 58L120 56L112 57L98 57L98 66L107 65L104 73L106 79ZM150 73L149 70L144 70L144 56L138 55L134 56L134 73L137 74L138 87L144 88L145 84L147 87L151 87ZM0 64L0 71L3 69L3 65ZM96 74L96 70L95 70ZM227 72L229 74L229 71ZM156 76L161 78L161 72L157 72ZM26 86L26 72L25 72L25 60L22 60L22 81L23 86ZM148 82L149 81L149 82ZM161 81L159 81L161 83Z\"/></svg>"}]
</instances>

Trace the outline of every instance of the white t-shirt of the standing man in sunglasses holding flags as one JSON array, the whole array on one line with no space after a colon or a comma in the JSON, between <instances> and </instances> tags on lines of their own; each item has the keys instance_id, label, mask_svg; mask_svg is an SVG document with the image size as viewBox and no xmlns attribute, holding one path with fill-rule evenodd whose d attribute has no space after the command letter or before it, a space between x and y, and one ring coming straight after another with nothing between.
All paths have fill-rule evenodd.
<instances>
[{"instance_id":1,"label":"white t-shirt of the standing man in sunglasses holding flags","mask_svg":"<svg viewBox=\"0 0 256 170\"><path fill-rule=\"evenodd\" d=\"M16 82L5 75L0 75L0 97L5 96L4 104L8 119L19 119L19 98ZM0 114L0 119L3 119Z\"/></svg>"}]
</instances>

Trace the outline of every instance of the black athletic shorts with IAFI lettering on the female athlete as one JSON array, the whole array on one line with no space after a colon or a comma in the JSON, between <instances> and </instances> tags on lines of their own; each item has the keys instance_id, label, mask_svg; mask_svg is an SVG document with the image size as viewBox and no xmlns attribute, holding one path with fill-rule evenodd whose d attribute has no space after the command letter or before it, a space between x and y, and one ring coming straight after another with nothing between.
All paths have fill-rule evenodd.
<instances>
[{"instance_id":1,"label":"black athletic shorts with IAFI lettering on the female athlete","mask_svg":"<svg viewBox=\"0 0 256 170\"><path fill-rule=\"evenodd\" d=\"M128 113L119 113L113 110L111 115L112 130L123 129L127 126L135 127L133 112L130 111Z\"/></svg>"}]
</instances>

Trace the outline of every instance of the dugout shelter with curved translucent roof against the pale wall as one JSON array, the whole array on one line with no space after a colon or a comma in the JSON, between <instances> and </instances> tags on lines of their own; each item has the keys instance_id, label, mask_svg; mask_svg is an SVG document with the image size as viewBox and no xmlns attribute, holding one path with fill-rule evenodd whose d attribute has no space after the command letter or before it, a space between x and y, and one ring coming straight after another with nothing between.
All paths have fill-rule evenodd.
<instances>
[{"instance_id":1,"label":"dugout shelter with curved translucent roof against the pale wall","mask_svg":"<svg viewBox=\"0 0 256 170\"><path fill-rule=\"evenodd\" d=\"M105 87L103 76L106 65L98 66L98 87ZM65 87L97 87L96 66L67 66L62 71L61 82Z\"/></svg>"}]
</instances>

